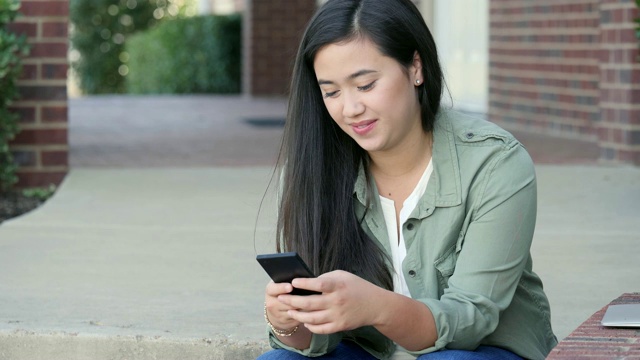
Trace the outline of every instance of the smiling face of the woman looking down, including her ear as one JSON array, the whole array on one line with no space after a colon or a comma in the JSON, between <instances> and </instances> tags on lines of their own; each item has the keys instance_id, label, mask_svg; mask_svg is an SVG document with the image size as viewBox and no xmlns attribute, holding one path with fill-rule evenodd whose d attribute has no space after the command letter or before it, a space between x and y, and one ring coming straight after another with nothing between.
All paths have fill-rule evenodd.
<instances>
[{"instance_id":1,"label":"smiling face of the woman looking down, including her ear","mask_svg":"<svg viewBox=\"0 0 640 360\"><path fill-rule=\"evenodd\" d=\"M424 136L417 55L407 69L371 41L358 39L325 46L313 65L329 114L370 155L402 151Z\"/></svg>"}]
</instances>

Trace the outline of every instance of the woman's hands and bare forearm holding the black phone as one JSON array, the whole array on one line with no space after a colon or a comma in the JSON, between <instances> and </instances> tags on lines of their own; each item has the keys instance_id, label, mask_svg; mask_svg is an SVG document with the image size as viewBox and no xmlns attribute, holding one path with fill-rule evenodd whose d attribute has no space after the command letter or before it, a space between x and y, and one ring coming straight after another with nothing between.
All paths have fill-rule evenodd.
<instances>
[{"instance_id":1,"label":"woman's hands and bare forearm holding the black phone","mask_svg":"<svg viewBox=\"0 0 640 360\"><path fill-rule=\"evenodd\" d=\"M433 314L425 304L346 271L336 270L317 278L274 285L277 286L270 284L267 288L273 289L272 300L279 302L277 308L286 314L280 314L279 321L286 321L286 326L304 325L298 329L295 339L290 339L296 340L298 349L308 346L311 333L333 334L362 326L374 326L389 339L413 351L433 346L438 338ZM291 285L322 295L290 295Z\"/></svg>"}]
</instances>

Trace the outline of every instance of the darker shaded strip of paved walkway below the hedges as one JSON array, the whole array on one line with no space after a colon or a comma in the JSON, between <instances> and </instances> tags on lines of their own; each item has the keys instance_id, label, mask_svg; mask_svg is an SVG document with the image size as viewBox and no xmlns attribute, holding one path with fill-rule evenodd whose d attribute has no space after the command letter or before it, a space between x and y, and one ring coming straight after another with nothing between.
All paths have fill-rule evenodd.
<instances>
[{"instance_id":1,"label":"darker shaded strip of paved walkway below the hedges","mask_svg":"<svg viewBox=\"0 0 640 360\"><path fill-rule=\"evenodd\" d=\"M69 104L72 168L271 166L282 99L90 97ZM247 120L263 126L251 126Z\"/></svg>"}]
</instances>

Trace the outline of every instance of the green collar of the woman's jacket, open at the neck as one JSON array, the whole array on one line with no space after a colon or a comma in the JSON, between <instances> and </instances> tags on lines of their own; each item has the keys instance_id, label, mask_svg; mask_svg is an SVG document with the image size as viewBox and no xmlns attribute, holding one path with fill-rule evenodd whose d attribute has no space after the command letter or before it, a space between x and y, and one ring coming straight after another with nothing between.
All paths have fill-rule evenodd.
<instances>
[{"instance_id":1,"label":"green collar of the woman's jacket, open at the neck","mask_svg":"<svg viewBox=\"0 0 640 360\"><path fill-rule=\"evenodd\" d=\"M453 131L452 114L450 110L441 109L436 116L433 129L433 174L429 179L422 201L413 214L417 218L428 216L434 207L457 206L462 203L462 185L460 166L456 150L455 134ZM360 165L358 177L354 184L354 194L363 206L367 204L367 177L364 167ZM375 182L370 184L373 190L370 207L377 206L378 189Z\"/></svg>"}]
</instances>

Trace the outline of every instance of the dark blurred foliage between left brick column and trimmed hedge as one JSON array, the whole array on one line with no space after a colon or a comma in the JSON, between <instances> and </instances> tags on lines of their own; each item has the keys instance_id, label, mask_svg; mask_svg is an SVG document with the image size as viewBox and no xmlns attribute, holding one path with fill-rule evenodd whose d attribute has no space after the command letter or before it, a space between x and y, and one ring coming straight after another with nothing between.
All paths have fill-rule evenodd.
<instances>
[{"instance_id":1,"label":"dark blurred foliage between left brick column and trimmed hedge","mask_svg":"<svg viewBox=\"0 0 640 360\"><path fill-rule=\"evenodd\" d=\"M125 92L126 39L195 10L188 0L71 0L71 65L88 94ZM187 13L187 14L185 14Z\"/></svg>"}]
</instances>

